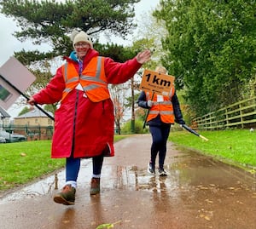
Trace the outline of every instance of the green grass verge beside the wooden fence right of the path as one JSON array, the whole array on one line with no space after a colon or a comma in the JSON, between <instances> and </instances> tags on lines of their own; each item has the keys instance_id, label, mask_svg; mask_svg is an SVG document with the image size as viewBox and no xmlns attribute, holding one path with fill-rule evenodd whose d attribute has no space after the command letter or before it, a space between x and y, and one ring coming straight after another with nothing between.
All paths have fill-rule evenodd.
<instances>
[{"instance_id":1,"label":"green grass verge beside the wooden fence right of the path","mask_svg":"<svg viewBox=\"0 0 256 229\"><path fill-rule=\"evenodd\" d=\"M249 168L256 167L256 131L248 129L198 132L202 140L186 130L171 132L169 140L204 154Z\"/></svg>"}]
</instances>

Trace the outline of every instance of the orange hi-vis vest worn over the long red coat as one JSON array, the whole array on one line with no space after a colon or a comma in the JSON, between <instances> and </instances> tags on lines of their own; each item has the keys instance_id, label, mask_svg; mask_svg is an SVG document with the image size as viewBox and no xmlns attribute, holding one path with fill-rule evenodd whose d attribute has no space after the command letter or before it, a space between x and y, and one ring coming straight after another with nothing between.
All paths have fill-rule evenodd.
<instances>
[{"instance_id":1,"label":"orange hi-vis vest worn over the long red coat","mask_svg":"<svg viewBox=\"0 0 256 229\"><path fill-rule=\"evenodd\" d=\"M104 58L93 57L89 64L79 75L73 63L62 66L62 73L66 83L66 89L62 93L63 101L67 94L80 83L86 96L93 102L99 102L110 98L107 78L104 71Z\"/></svg>"}]
</instances>

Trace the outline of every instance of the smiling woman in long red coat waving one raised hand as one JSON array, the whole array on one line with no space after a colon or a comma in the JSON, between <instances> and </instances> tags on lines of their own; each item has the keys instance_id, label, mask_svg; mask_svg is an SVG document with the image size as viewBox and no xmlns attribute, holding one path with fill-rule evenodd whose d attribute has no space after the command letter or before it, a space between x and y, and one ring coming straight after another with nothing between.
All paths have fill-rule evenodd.
<instances>
[{"instance_id":1,"label":"smiling woman in long red coat waving one raised hand","mask_svg":"<svg viewBox=\"0 0 256 229\"><path fill-rule=\"evenodd\" d=\"M52 158L66 157L66 184L54 197L55 203L74 204L80 159L92 157L90 195L100 192L103 157L114 156L113 102L108 83L125 83L150 60L148 49L125 63L102 57L93 49L84 31L73 31L73 52L66 63L28 104L53 104L55 112Z\"/></svg>"}]
</instances>

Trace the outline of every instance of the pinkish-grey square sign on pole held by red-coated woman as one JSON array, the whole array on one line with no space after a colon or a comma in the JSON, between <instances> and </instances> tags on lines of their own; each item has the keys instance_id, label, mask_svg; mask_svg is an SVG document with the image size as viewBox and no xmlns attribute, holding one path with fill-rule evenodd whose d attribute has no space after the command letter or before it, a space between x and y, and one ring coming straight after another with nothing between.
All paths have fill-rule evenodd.
<instances>
[{"instance_id":1,"label":"pinkish-grey square sign on pole held by red-coated woman","mask_svg":"<svg viewBox=\"0 0 256 229\"><path fill-rule=\"evenodd\" d=\"M16 89L25 92L36 80L36 77L28 71L26 66L23 66L15 57L10 57L0 67L0 75L0 106L6 110L20 97L20 93Z\"/></svg>"}]
</instances>

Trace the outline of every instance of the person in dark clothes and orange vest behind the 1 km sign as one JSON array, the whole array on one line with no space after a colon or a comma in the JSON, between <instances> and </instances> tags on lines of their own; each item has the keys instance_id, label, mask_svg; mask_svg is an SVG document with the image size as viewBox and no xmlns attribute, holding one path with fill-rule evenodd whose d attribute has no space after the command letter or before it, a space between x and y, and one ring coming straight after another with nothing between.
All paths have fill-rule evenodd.
<instances>
[{"instance_id":1,"label":"person in dark clothes and orange vest behind the 1 km sign","mask_svg":"<svg viewBox=\"0 0 256 229\"><path fill-rule=\"evenodd\" d=\"M166 68L163 66L156 67L155 72L167 73ZM148 173L155 175L155 160L159 153L159 175L166 176L166 170L164 169L166 143L171 125L174 124L174 122L181 125L185 124L177 100L177 94L174 87L170 90L168 96L142 91L137 103L138 106L149 109L146 122L152 135L152 145L151 157L148 163Z\"/></svg>"}]
</instances>

